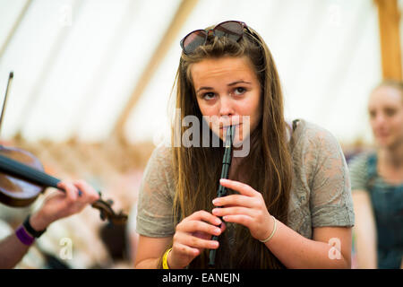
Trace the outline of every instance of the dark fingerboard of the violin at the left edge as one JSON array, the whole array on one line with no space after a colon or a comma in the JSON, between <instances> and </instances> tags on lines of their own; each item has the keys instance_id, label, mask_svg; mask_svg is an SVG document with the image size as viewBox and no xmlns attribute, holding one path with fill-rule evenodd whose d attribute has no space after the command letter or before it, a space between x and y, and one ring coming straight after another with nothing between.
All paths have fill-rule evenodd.
<instances>
[{"instance_id":1,"label":"dark fingerboard of the violin at the left edge","mask_svg":"<svg viewBox=\"0 0 403 287\"><path fill-rule=\"evenodd\" d=\"M0 170L17 178L28 180L43 187L57 187L60 179L47 173L31 168L19 161L14 161L0 154Z\"/></svg>"}]
</instances>

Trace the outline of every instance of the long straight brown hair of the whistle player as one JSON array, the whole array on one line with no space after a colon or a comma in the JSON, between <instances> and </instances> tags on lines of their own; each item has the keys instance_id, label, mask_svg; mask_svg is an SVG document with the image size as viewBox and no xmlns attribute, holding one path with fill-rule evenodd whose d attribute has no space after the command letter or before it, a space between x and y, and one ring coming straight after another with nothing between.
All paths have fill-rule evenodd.
<instances>
[{"instance_id":1,"label":"long straight brown hair of the whistle player","mask_svg":"<svg viewBox=\"0 0 403 287\"><path fill-rule=\"evenodd\" d=\"M190 66L206 58L248 57L262 88L262 117L250 135L250 152L243 158L236 177L242 174L243 182L262 193L270 214L287 224L288 198L291 188L292 162L287 146L286 122L283 114L283 96L279 74L270 50L262 38L252 30L244 31L237 42L226 37L212 35L206 45L197 48L191 55L182 53L176 74L176 109L181 120L193 115L202 121L193 88ZM176 122L180 124L180 122ZM184 126L173 126L184 135ZM200 131L202 132L202 130ZM175 135L172 136L174 138ZM210 143L213 138L210 131ZM176 183L174 215L177 220L199 211L211 211L212 199L217 196L224 147L174 147L173 167ZM240 180L239 180L240 181ZM228 226L228 225L227 225ZM253 239L248 229L236 224L235 245L229 249L227 231L219 238L220 247L216 258L217 267L279 268L283 267L269 248ZM206 268L208 251L194 258L190 267ZM228 265L228 261L229 264Z\"/></svg>"}]
</instances>

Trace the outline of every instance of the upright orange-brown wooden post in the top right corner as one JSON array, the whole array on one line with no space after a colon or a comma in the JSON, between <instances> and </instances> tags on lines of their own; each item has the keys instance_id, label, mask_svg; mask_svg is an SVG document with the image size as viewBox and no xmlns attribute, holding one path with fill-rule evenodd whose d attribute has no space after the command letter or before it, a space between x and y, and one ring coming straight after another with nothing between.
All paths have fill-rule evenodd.
<instances>
[{"instance_id":1,"label":"upright orange-brown wooden post in the top right corner","mask_svg":"<svg viewBox=\"0 0 403 287\"><path fill-rule=\"evenodd\" d=\"M397 0L375 0L382 53L383 79L402 80L399 21L400 11Z\"/></svg>"}]
</instances>

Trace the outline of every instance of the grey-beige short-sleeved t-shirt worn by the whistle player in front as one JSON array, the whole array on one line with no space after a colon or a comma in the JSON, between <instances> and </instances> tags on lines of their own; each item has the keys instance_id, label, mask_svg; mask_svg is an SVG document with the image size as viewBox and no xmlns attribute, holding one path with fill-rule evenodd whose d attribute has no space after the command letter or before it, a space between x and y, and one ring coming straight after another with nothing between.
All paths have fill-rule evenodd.
<instances>
[{"instance_id":1,"label":"grey-beige short-sleeved t-shirt worn by the whistle player in front","mask_svg":"<svg viewBox=\"0 0 403 287\"><path fill-rule=\"evenodd\" d=\"M294 172L287 225L308 239L315 227L353 226L347 163L336 138L322 127L300 120L289 144ZM136 224L141 235L168 237L175 233L171 159L170 149L159 146L144 170Z\"/></svg>"}]
</instances>

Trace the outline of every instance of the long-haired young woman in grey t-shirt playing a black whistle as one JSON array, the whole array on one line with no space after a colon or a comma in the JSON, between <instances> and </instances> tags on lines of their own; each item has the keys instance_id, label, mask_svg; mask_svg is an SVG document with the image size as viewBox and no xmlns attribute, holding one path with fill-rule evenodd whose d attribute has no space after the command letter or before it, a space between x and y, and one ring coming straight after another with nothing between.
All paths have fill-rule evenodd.
<instances>
[{"instance_id":1,"label":"long-haired young woman in grey t-shirt playing a black whistle","mask_svg":"<svg viewBox=\"0 0 403 287\"><path fill-rule=\"evenodd\" d=\"M181 46L181 119L219 118L209 121L210 143L233 125L250 150L233 157L230 180L219 180L223 144L153 152L138 203L135 266L205 268L217 249L217 268L348 268L354 213L346 161L326 130L287 124L263 39L229 21L189 33ZM173 134L185 135L186 125L176 125ZM232 192L216 198L219 183Z\"/></svg>"}]
</instances>

